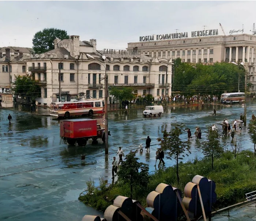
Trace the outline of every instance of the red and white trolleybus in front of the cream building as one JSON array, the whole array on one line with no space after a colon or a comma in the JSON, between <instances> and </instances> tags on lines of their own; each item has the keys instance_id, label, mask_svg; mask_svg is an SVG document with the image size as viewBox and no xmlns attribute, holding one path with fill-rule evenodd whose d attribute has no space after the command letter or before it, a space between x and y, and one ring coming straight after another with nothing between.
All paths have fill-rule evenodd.
<instances>
[{"instance_id":1,"label":"red and white trolleybus in front of the cream building","mask_svg":"<svg viewBox=\"0 0 256 221\"><path fill-rule=\"evenodd\" d=\"M103 101L65 101L52 102L50 105L50 115L55 117L70 117L81 115L93 115L104 113Z\"/></svg>"}]
</instances>

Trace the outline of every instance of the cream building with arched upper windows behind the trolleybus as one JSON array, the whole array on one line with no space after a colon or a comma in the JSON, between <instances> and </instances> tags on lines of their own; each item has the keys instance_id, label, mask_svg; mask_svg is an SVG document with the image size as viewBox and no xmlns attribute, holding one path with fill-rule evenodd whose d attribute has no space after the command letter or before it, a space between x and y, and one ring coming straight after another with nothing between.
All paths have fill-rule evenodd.
<instances>
[{"instance_id":1,"label":"cream building with arched upper windows behind the trolleybus","mask_svg":"<svg viewBox=\"0 0 256 221\"><path fill-rule=\"evenodd\" d=\"M93 56L99 61L87 56ZM153 97L171 94L172 63L170 59L149 57L138 51L96 50L96 40L80 41L79 36L54 41L54 50L31 55L27 59L27 71L41 86L41 105L59 101L59 68L61 101L84 96L86 100L103 99L105 62L108 84L111 87L134 88L136 95ZM168 68L167 68L168 65ZM167 68L167 78L166 78ZM166 82L167 80L167 82ZM109 96L108 102L113 97Z\"/></svg>"}]
</instances>

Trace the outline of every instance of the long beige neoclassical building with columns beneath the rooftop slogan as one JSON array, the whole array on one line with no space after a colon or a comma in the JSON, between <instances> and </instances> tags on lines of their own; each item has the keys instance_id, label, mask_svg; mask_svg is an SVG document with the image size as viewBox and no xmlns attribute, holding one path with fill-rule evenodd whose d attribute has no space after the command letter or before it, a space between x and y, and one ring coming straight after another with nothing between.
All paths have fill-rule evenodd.
<instances>
[{"instance_id":1,"label":"long beige neoclassical building with columns beneath the rooftop slogan","mask_svg":"<svg viewBox=\"0 0 256 221\"><path fill-rule=\"evenodd\" d=\"M127 50L133 48L159 59L181 58L182 62L244 62L249 73L249 81L253 85L251 91L256 91L256 35L233 34L224 36L215 34L128 43Z\"/></svg>"}]
</instances>

